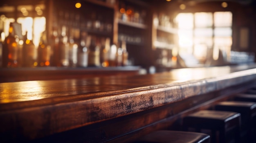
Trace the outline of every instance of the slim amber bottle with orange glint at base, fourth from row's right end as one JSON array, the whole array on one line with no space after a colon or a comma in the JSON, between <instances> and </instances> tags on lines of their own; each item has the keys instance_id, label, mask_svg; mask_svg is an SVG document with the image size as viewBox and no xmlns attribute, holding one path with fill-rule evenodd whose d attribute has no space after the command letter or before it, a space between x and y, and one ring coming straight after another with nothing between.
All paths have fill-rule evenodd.
<instances>
[{"instance_id":1,"label":"slim amber bottle with orange glint at base, fourth from row's right end","mask_svg":"<svg viewBox=\"0 0 256 143\"><path fill-rule=\"evenodd\" d=\"M100 62L101 62L101 66L103 67L108 67L109 63L108 63L108 55L109 55L109 50L110 50L110 38L107 37L102 38L101 39L101 52L100 52Z\"/></svg>"}]
</instances>

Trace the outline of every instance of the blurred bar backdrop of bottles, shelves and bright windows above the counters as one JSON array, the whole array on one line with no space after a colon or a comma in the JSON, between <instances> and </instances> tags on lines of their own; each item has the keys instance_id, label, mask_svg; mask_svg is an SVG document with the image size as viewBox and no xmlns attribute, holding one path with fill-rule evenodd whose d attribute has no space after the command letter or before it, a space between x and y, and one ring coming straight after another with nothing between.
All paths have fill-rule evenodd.
<instances>
[{"instance_id":1,"label":"blurred bar backdrop of bottles, shelves and bright windows above the counters","mask_svg":"<svg viewBox=\"0 0 256 143\"><path fill-rule=\"evenodd\" d=\"M250 64L255 23L254 0L2 1L0 66Z\"/></svg>"}]
</instances>

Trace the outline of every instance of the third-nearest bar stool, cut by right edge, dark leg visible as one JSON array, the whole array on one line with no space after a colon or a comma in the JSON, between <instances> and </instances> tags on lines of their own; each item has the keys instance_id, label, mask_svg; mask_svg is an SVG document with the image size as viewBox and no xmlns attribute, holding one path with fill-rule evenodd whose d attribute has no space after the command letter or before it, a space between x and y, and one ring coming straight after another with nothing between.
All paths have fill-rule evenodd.
<instances>
[{"instance_id":1,"label":"third-nearest bar stool, cut by right edge, dark leg visible","mask_svg":"<svg viewBox=\"0 0 256 143\"><path fill-rule=\"evenodd\" d=\"M256 117L256 103L244 101L224 101L215 105L215 110L239 112L241 114L241 141L252 142L252 130Z\"/></svg>"}]
</instances>

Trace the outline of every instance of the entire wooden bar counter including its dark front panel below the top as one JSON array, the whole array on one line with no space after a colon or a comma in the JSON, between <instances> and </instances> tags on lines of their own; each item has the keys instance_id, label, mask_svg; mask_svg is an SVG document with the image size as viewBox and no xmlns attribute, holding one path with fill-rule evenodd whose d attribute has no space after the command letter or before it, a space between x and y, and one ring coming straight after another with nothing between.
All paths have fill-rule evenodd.
<instances>
[{"instance_id":1,"label":"entire wooden bar counter including its dark front panel below the top","mask_svg":"<svg viewBox=\"0 0 256 143\"><path fill-rule=\"evenodd\" d=\"M0 83L0 142L132 142L256 86L256 65Z\"/></svg>"}]
</instances>

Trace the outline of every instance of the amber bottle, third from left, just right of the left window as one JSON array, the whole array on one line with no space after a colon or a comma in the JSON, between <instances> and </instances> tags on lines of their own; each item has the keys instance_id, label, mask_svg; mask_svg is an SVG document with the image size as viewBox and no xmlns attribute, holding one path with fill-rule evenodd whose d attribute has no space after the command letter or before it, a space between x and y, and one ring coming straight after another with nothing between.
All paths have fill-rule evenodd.
<instances>
[{"instance_id":1,"label":"amber bottle, third from left, just right of the left window","mask_svg":"<svg viewBox=\"0 0 256 143\"><path fill-rule=\"evenodd\" d=\"M38 46L38 66L51 66L52 48L47 40L46 31L41 34Z\"/></svg>"}]
</instances>

